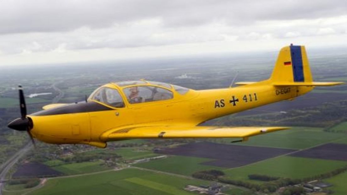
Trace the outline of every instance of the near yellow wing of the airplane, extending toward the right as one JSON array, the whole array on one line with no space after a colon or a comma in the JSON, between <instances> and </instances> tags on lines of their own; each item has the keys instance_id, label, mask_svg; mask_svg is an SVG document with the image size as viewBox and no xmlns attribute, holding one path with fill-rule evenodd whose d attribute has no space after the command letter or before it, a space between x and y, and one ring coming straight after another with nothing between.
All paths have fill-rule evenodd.
<instances>
[{"instance_id":1,"label":"near yellow wing of the airplane, extending toward the right","mask_svg":"<svg viewBox=\"0 0 347 195\"><path fill-rule=\"evenodd\" d=\"M215 126L142 126L111 129L101 135L103 141L130 138L221 138L270 133L287 127L215 127Z\"/></svg>"}]
</instances>

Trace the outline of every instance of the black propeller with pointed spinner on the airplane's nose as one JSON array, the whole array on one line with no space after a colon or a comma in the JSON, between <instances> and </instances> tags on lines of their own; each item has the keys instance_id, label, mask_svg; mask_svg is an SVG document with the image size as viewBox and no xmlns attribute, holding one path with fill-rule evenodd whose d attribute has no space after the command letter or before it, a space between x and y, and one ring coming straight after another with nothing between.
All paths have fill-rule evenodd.
<instances>
[{"instance_id":1,"label":"black propeller with pointed spinner on the airplane's nose","mask_svg":"<svg viewBox=\"0 0 347 195\"><path fill-rule=\"evenodd\" d=\"M27 117L26 114L26 104L25 104L25 98L23 93L22 86L18 86L19 91L19 108L20 108L20 116L21 118L17 118L15 120L12 120L7 126L11 129L15 129L18 131L26 131L31 139L31 142L35 146L35 141L33 138L33 135L31 134L30 130L33 128L34 124L31 118Z\"/></svg>"}]
</instances>

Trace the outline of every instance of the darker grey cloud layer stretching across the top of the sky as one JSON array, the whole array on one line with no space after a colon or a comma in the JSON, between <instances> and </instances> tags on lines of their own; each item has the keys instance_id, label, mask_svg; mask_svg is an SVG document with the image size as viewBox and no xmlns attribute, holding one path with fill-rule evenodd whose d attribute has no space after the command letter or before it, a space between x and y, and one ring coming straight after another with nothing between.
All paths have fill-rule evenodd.
<instances>
[{"instance_id":1,"label":"darker grey cloud layer stretching across the top of the sky","mask_svg":"<svg viewBox=\"0 0 347 195\"><path fill-rule=\"evenodd\" d=\"M317 0L2 0L0 33L62 32L81 27L158 18L166 27L198 26L216 21L247 25L262 20L293 20L346 14L346 1Z\"/></svg>"}]
</instances>

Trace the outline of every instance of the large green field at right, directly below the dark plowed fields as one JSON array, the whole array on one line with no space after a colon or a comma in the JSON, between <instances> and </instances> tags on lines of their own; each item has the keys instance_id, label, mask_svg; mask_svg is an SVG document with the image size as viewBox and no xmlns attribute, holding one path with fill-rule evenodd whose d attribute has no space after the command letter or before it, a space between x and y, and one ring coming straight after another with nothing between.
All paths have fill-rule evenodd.
<instances>
[{"instance_id":1,"label":"large green field at right, directly below the dark plowed fields","mask_svg":"<svg viewBox=\"0 0 347 195\"><path fill-rule=\"evenodd\" d=\"M281 156L250 164L245 167L223 170L230 179L248 180L249 174L283 178L306 178L346 166L344 161ZM251 181L251 180L249 180Z\"/></svg>"}]
</instances>

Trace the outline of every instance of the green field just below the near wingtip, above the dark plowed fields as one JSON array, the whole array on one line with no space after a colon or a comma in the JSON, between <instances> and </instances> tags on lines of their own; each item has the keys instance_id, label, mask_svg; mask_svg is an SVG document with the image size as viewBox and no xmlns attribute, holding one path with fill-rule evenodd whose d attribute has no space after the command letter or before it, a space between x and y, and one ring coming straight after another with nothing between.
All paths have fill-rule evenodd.
<instances>
[{"instance_id":1,"label":"green field just below the near wingtip, above the dark plowed fields","mask_svg":"<svg viewBox=\"0 0 347 195\"><path fill-rule=\"evenodd\" d=\"M305 149L322 143L331 142L346 136L344 133L324 132L322 128L291 127L288 130L250 137L247 142L236 143L237 145L268 146L288 149ZM230 138L215 139L214 141L230 144Z\"/></svg>"}]
</instances>

